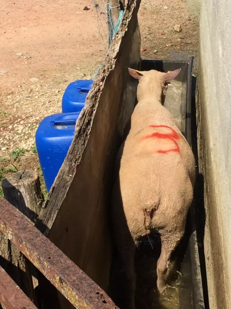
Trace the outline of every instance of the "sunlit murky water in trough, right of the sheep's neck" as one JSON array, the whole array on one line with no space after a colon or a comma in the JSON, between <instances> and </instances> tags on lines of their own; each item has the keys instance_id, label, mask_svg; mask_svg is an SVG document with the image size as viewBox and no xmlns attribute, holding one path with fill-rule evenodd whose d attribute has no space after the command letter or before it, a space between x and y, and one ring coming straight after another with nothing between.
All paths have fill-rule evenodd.
<instances>
[{"instance_id":1,"label":"sunlit murky water in trough, right of the sheep's neck","mask_svg":"<svg viewBox=\"0 0 231 309\"><path fill-rule=\"evenodd\" d=\"M165 96L164 106L173 114L181 128L182 113L181 113L181 100L182 100L182 82L172 80L168 84L167 93Z\"/></svg>"}]
</instances>

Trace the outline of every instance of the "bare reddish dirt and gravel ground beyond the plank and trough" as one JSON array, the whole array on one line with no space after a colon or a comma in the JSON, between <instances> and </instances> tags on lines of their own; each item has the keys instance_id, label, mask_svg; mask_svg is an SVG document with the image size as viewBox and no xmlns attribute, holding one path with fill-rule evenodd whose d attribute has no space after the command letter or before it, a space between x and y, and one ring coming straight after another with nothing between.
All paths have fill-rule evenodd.
<instances>
[{"instance_id":1,"label":"bare reddish dirt and gravel ground beyond the plank and trough","mask_svg":"<svg viewBox=\"0 0 231 309\"><path fill-rule=\"evenodd\" d=\"M191 2L141 1L141 47L146 49L142 58L197 55L198 9ZM20 169L41 175L36 128L44 117L61 112L69 83L91 79L103 63L108 47L105 4L103 0L2 0L0 178Z\"/></svg>"}]
</instances>

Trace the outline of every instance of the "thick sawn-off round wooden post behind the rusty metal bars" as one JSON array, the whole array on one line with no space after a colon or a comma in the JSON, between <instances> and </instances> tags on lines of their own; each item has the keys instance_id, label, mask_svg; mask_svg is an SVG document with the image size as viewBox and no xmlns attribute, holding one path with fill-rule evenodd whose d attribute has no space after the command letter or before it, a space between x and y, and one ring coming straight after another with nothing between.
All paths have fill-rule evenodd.
<instances>
[{"instance_id":1,"label":"thick sawn-off round wooden post behind the rusty metal bars","mask_svg":"<svg viewBox=\"0 0 231 309\"><path fill-rule=\"evenodd\" d=\"M2 181L5 199L35 224L44 202L39 176L34 171L20 171ZM32 264L2 233L0 234L0 264L36 304L34 288L37 280Z\"/></svg>"}]
</instances>

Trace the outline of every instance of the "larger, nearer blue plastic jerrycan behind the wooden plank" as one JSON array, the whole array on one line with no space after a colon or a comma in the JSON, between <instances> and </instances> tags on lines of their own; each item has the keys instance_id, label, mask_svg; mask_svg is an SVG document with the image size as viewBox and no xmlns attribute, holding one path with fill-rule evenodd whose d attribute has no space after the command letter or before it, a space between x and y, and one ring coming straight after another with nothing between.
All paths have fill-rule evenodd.
<instances>
[{"instance_id":1,"label":"larger, nearer blue plastic jerrycan behind the wooden plank","mask_svg":"<svg viewBox=\"0 0 231 309\"><path fill-rule=\"evenodd\" d=\"M43 119L37 128L36 147L48 192L71 146L79 114L53 114Z\"/></svg>"}]
</instances>

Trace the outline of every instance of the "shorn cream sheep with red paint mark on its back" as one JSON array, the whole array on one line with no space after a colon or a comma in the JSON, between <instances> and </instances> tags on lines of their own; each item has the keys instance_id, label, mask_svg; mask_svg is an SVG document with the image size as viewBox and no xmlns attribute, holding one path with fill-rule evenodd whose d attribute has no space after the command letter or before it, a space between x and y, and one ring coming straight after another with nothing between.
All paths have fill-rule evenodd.
<instances>
[{"instance_id":1,"label":"shorn cream sheep with red paint mark on its back","mask_svg":"<svg viewBox=\"0 0 231 309\"><path fill-rule=\"evenodd\" d=\"M112 220L118 252L124 264L129 309L135 308L135 249L141 237L157 231L161 253L157 289L165 289L170 255L181 240L193 199L195 159L173 115L163 105L166 83L181 69L162 73L136 71L138 103L130 131L116 159Z\"/></svg>"}]
</instances>

